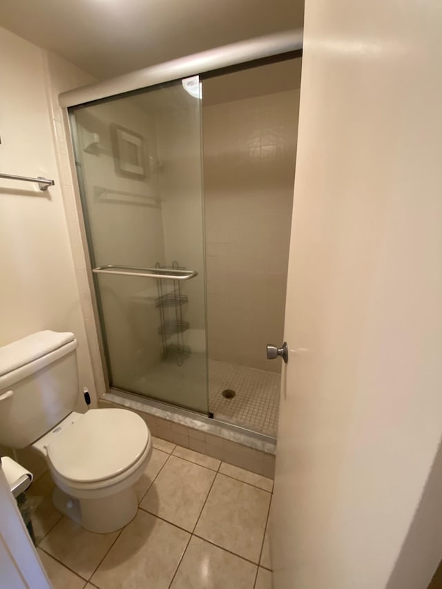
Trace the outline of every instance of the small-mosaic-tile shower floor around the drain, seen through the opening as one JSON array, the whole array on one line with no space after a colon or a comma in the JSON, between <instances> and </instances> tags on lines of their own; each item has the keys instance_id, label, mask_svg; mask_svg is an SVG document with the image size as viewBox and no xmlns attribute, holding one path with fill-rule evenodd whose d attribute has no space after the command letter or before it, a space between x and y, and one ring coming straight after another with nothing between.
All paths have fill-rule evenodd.
<instances>
[{"instance_id":1,"label":"small-mosaic-tile shower floor around the drain, seen through the opening","mask_svg":"<svg viewBox=\"0 0 442 589\"><path fill-rule=\"evenodd\" d=\"M233 398L222 396L233 390ZM209 360L209 407L215 418L276 437L280 374Z\"/></svg>"}]
</instances>

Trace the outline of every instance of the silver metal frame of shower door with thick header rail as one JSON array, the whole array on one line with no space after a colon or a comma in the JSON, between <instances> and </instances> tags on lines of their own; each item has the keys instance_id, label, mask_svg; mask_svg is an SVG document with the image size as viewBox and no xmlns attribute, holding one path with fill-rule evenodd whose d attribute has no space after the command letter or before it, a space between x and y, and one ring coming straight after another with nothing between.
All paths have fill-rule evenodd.
<instances>
[{"instance_id":1,"label":"silver metal frame of shower door with thick header rail","mask_svg":"<svg viewBox=\"0 0 442 589\"><path fill-rule=\"evenodd\" d=\"M265 64L275 63L277 61L285 61L287 59L296 59L299 57L302 57L302 29L289 30L287 32L276 33L274 35L266 35L256 39L250 39L248 41L240 41L239 43L222 46L220 48L204 51L195 55L189 55L187 57L175 59L173 61L167 61L166 63L159 64L157 66L151 66L142 70L137 70L133 73L121 75L108 81L102 81L97 84L90 84L89 86L84 86L75 90L69 90L68 92L64 92L59 95L59 104L62 108L68 109L70 107L80 106L88 103L100 102L101 99L116 97L117 95L130 93L133 90L142 90L143 88L158 86L166 82L182 80L186 77L191 77L194 75L198 75L200 80L204 80L209 77L222 75L224 73L246 70ZM72 123L72 117L73 114L68 112L70 137L73 139L76 134L76 127L75 124ZM77 170L77 166L75 166L75 169ZM81 174L77 173L76 177L78 182L77 189L80 196L78 202L80 203L81 216L84 220L87 233L88 220L87 215L85 215L85 207L81 198L81 189L83 187L79 186L79 184L82 182L82 180L80 180ZM214 418L213 414L210 413L210 407L209 415L204 416L204 414L191 409L184 409L184 407L173 405L172 403L163 403L162 401L155 400L153 398L145 397L139 394L133 394L116 387L111 387L111 380L108 374L108 363L106 361L106 338L104 338L102 331L102 320L99 309L100 305L97 297L97 289L95 288L95 276L93 276L92 268L90 266L92 258L87 241L84 242L84 249L88 253L88 263L86 266L89 283L91 286L90 293L93 300L95 313L94 323L99 351L102 358L102 369L106 384L106 392L111 394L114 393L119 397L126 398L128 401L135 401L135 403L141 403L144 406L153 407L153 409L157 409L158 412L166 412L170 414L171 409L173 409L174 414L184 418L195 418L202 423L220 425L224 429L230 429L233 432L238 432L240 434L247 434L263 442L270 444L276 443L276 438L273 438L273 436L262 434L260 432L248 429L247 427ZM204 293L204 296L206 296L206 292ZM207 390L207 394L209 396L209 390Z\"/></svg>"}]
</instances>

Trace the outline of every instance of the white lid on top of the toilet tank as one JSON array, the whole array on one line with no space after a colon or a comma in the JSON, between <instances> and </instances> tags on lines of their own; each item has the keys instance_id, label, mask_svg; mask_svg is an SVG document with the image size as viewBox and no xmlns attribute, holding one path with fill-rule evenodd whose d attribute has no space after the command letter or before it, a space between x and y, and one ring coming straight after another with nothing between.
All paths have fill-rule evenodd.
<instances>
[{"instance_id":1,"label":"white lid on top of the toilet tank","mask_svg":"<svg viewBox=\"0 0 442 589\"><path fill-rule=\"evenodd\" d=\"M0 347L0 376L46 356L73 340L75 336L69 331L59 333L46 329L2 346Z\"/></svg>"}]
</instances>

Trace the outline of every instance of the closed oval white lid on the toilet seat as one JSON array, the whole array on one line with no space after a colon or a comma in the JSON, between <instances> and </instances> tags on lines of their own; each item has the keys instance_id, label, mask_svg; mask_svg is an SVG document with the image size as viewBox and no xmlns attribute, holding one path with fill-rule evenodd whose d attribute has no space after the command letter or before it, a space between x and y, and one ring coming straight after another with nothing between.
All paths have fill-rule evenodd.
<instances>
[{"instance_id":1,"label":"closed oval white lid on the toilet seat","mask_svg":"<svg viewBox=\"0 0 442 589\"><path fill-rule=\"evenodd\" d=\"M103 481L127 470L143 454L149 430L127 409L90 409L58 432L47 447L55 470L70 481Z\"/></svg>"}]
</instances>

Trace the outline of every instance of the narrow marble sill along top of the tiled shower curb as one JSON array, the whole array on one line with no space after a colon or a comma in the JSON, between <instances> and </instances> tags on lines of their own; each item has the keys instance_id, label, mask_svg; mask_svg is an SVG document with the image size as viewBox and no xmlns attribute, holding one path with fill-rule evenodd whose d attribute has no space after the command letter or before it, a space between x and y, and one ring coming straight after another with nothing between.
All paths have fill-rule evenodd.
<instances>
[{"instance_id":1,"label":"narrow marble sill along top of the tiled shower curb","mask_svg":"<svg viewBox=\"0 0 442 589\"><path fill-rule=\"evenodd\" d=\"M254 450L259 450L260 452L276 454L275 437L254 432L252 429L247 429L247 427L242 427L235 423L228 423L218 418L209 418L190 409L169 405L169 403L161 403L161 401L113 387L111 387L108 393L102 396L102 400L108 403L123 405L137 412L151 414L157 418L171 421L190 429L196 429L199 432L218 436L224 438L224 440L229 440L253 448Z\"/></svg>"}]
</instances>

